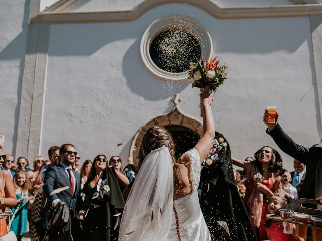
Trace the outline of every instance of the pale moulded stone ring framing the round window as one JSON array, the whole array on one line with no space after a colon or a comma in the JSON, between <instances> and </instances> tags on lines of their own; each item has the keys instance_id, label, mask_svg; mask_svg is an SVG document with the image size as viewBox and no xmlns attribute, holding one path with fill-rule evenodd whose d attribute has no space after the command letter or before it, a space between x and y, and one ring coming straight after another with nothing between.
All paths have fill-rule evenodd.
<instances>
[{"instance_id":1,"label":"pale moulded stone ring framing the round window","mask_svg":"<svg viewBox=\"0 0 322 241\"><path fill-rule=\"evenodd\" d=\"M178 21L180 20L180 21ZM185 16L168 16L155 20L151 23L141 38L140 53L144 65L147 69L156 77L166 80L183 82L188 79L188 70L181 73L171 73L160 69L152 60L150 56L150 46L153 39L160 33L169 29L169 27L175 28L177 25L185 27L196 34L199 37L201 56L210 56L213 52L212 40L209 32L202 27L200 23L192 18Z\"/></svg>"}]
</instances>

